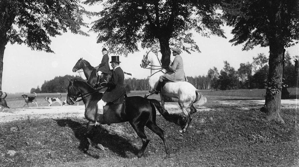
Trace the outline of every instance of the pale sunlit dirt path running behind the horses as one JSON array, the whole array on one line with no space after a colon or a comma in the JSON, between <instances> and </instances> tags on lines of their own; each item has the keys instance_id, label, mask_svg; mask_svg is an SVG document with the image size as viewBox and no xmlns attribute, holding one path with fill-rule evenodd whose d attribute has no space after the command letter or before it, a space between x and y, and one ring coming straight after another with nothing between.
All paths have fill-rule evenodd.
<instances>
[{"instance_id":1,"label":"pale sunlit dirt path running behind the horses","mask_svg":"<svg viewBox=\"0 0 299 167\"><path fill-rule=\"evenodd\" d=\"M297 104L298 103L298 104ZM265 104L265 100L230 100L230 101L208 101L203 106L194 105L197 111L212 111L216 109L257 109ZM281 100L281 108L297 108L299 100ZM177 102L165 103L165 108L170 113L181 112ZM64 118L64 117L84 117L84 105L78 106L53 106L53 107L30 107L5 109L0 112L0 122L10 122L25 119L42 118Z\"/></svg>"}]
</instances>

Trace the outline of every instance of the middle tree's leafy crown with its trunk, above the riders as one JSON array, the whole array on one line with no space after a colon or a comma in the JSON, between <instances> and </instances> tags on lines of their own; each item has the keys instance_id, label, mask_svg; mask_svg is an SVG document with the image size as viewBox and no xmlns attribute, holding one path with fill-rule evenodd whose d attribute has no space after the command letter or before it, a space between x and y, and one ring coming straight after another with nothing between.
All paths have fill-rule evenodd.
<instances>
[{"instance_id":1,"label":"middle tree's leafy crown with its trunk, above the riders","mask_svg":"<svg viewBox=\"0 0 299 167\"><path fill-rule=\"evenodd\" d=\"M93 5L103 0L87 0ZM160 44L162 65L168 67L170 47L173 45L190 53L198 51L193 31L209 36L225 37L221 15L216 12L217 1L190 0L109 0L94 22L92 31L98 33L97 42L104 42L112 53L127 56L141 46L151 48Z\"/></svg>"}]
</instances>

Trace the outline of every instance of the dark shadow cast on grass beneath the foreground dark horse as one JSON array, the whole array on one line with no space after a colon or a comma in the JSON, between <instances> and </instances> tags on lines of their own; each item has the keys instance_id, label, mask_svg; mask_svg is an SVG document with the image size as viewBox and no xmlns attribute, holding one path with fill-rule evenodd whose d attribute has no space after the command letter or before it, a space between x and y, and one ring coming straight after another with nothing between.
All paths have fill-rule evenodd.
<instances>
[{"instance_id":1,"label":"dark shadow cast on grass beneath the foreground dark horse","mask_svg":"<svg viewBox=\"0 0 299 167\"><path fill-rule=\"evenodd\" d=\"M80 122L73 121L71 119L54 119L57 122L57 125L61 127L70 127L75 134L75 137L80 141L78 148L82 150L86 143L87 139L84 137L87 128L83 126ZM120 137L115 134L109 134L108 131L102 127L96 127L93 131L93 141L99 144L103 144L104 147L109 148L112 152L117 153L120 157L128 157L126 152L132 152L137 155L139 149L131 144L126 138ZM100 151L100 150L99 150ZM85 152L87 155L100 158L98 155L91 155L88 152Z\"/></svg>"}]
</instances>

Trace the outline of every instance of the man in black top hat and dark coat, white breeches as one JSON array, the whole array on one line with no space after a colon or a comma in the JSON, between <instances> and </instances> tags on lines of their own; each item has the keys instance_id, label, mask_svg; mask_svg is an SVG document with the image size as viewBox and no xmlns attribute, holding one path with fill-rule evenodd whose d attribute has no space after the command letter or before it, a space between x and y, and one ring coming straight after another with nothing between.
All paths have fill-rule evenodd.
<instances>
[{"instance_id":1,"label":"man in black top hat and dark coat, white breeches","mask_svg":"<svg viewBox=\"0 0 299 167\"><path fill-rule=\"evenodd\" d=\"M103 107L108 103L114 104L124 103L125 88L123 81L125 79L123 70L119 67L119 56L111 56L111 66L114 69L111 76L111 81L107 83L108 89L103 94L102 99L97 103L97 114L103 114Z\"/></svg>"}]
</instances>

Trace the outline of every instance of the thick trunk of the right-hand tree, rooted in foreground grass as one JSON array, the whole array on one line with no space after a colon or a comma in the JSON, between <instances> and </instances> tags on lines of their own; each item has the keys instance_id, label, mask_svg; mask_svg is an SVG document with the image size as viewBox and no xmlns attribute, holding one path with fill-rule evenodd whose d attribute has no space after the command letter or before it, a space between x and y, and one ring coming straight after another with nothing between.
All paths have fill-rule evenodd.
<instances>
[{"instance_id":1,"label":"thick trunk of the right-hand tree, rooted in foreground grass","mask_svg":"<svg viewBox=\"0 0 299 167\"><path fill-rule=\"evenodd\" d=\"M280 99L283 70L283 46L269 42L269 75L266 88L265 110L268 119L284 123L280 116Z\"/></svg>"}]
</instances>

